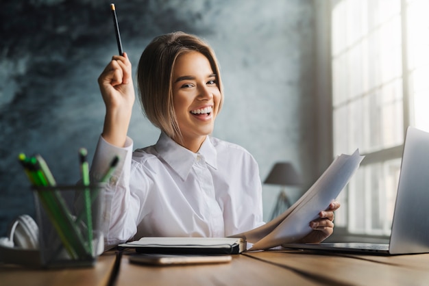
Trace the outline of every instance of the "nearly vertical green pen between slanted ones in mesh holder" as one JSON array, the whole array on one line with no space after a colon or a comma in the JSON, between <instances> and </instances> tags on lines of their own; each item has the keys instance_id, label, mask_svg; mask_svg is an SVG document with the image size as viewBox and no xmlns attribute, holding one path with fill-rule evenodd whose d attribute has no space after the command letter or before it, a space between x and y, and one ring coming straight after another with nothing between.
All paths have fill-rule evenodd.
<instances>
[{"instance_id":1,"label":"nearly vertical green pen between slanted ones in mesh holder","mask_svg":"<svg viewBox=\"0 0 429 286\"><path fill-rule=\"evenodd\" d=\"M88 151L86 148L79 149L80 172L82 175L82 183L84 183L84 211L86 213L86 227L88 231L88 246L90 253L93 253L93 216L91 213L91 194L89 189L89 166L86 156Z\"/></svg>"}]
</instances>

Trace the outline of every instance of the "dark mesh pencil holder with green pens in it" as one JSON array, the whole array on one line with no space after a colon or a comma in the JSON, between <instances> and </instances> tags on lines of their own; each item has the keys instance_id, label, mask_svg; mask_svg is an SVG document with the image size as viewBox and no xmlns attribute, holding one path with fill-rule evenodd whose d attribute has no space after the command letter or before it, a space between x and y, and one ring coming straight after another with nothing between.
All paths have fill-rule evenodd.
<instances>
[{"instance_id":1,"label":"dark mesh pencil holder with green pens in it","mask_svg":"<svg viewBox=\"0 0 429 286\"><path fill-rule=\"evenodd\" d=\"M103 184L34 187L44 268L93 266L103 252Z\"/></svg>"}]
</instances>

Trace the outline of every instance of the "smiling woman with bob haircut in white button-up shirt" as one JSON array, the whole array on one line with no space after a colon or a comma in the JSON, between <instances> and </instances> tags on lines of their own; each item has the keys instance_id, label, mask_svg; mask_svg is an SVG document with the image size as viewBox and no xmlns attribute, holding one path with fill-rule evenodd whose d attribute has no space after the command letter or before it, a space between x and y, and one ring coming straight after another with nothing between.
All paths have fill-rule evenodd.
<instances>
[{"instance_id":1,"label":"smiling woman with bob haircut in white button-up shirt","mask_svg":"<svg viewBox=\"0 0 429 286\"><path fill-rule=\"evenodd\" d=\"M92 176L101 177L112 155L121 158L107 190L106 244L143 236L224 237L264 224L255 159L210 136L223 103L212 49L182 32L159 36L143 51L137 73L140 102L161 134L154 146L134 152L127 137L135 98L127 54L112 57L98 80L106 118ZM321 211L302 241L328 237L338 207L334 202Z\"/></svg>"}]
</instances>

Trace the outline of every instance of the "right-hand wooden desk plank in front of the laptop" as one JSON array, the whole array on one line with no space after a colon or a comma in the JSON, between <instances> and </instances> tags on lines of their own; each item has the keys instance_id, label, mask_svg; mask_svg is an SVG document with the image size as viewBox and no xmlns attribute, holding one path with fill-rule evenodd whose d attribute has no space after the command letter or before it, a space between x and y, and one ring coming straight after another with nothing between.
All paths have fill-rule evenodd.
<instances>
[{"instance_id":1,"label":"right-hand wooden desk plank in front of the laptop","mask_svg":"<svg viewBox=\"0 0 429 286\"><path fill-rule=\"evenodd\" d=\"M387 257L280 250L245 255L321 285L429 285L429 254Z\"/></svg>"}]
</instances>

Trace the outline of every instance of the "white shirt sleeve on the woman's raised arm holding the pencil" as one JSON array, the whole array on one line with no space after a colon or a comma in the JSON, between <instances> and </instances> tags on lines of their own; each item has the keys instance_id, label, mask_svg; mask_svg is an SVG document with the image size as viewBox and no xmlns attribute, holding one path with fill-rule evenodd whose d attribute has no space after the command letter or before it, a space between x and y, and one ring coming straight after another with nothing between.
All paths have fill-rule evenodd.
<instances>
[{"instance_id":1,"label":"white shirt sleeve on the woman's raised arm holding the pencil","mask_svg":"<svg viewBox=\"0 0 429 286\"><path fill-rule=\"evenodd\" d=\"M132 164L133 141L127 138L125 146L119 148L109 144L102 136L99 138L93 163L90 168L91 178L99 180L107 172L115 155L119 156L115 168L103 193L103 233L105 249L126 242L136 233L134 217L138 211L127 208L130 200L130 170ZM134 213L135 212L135 213Z\"/></svg>"}]
</instances>

